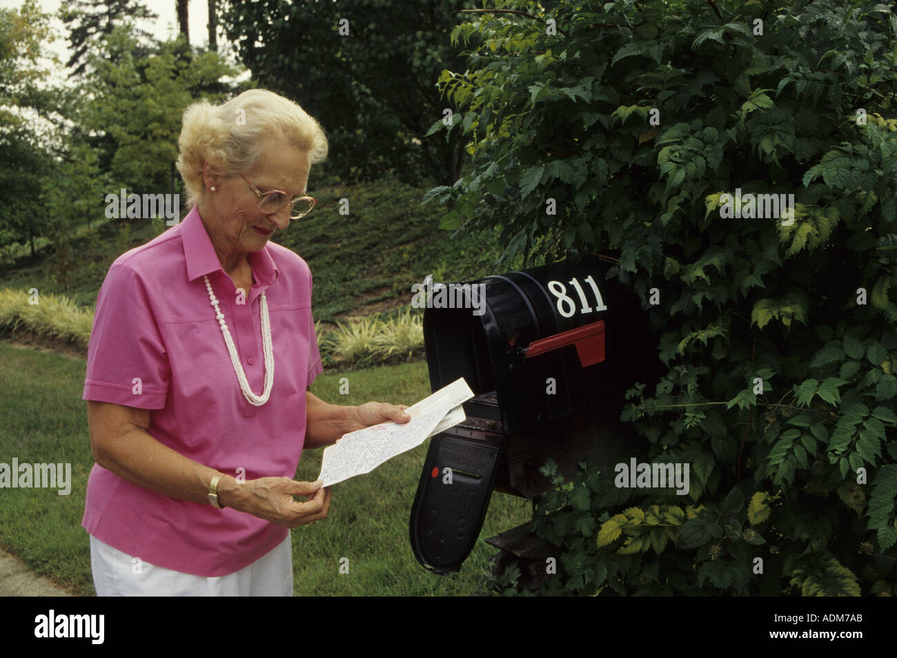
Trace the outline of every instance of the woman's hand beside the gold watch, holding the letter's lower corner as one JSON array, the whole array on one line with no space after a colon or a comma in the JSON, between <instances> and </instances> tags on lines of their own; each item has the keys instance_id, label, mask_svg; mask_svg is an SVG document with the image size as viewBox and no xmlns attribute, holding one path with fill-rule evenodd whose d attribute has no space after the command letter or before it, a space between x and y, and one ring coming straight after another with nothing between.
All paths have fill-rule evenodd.
<instances>
[{"instance_id":1,"label":"woman's hand beside the gold watch, holding the letter's lower corner","mask_svg":"<svg viewBox=\"0 0 897 658\"><path fill-rule=\"evenodd\" d=\"M330 487L322 488L321 484L321 480L298 482L291 478L257 478L239 483L235 478L227 477L219 483L218 496L225 507L284 528L295 528L327 518ZM300 503L293 496L310 497Z\"/></svg>"}]
</instances>

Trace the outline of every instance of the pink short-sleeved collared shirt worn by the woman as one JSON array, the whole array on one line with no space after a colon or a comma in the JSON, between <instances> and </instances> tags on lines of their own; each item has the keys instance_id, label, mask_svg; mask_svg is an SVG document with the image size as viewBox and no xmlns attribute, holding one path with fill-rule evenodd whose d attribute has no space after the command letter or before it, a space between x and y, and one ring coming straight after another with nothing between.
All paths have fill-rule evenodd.
<instances>
[{"instance_id":1,"label":"pink short-sleeved collared shirt worn by the woman","mask_svg":"<svg viewBox=\"0 0 897 658\"><path fill-rule=\"evenodd\" d=\"M97 298L83 399L152 409L148 432L157 441L228 475L292 478L305 440L306 387L322 370L311 273L271 241L249 262L256 283L240 304L196 206L180 224L119 256ZM261 407L239 388L203 275L256 395L265 382L259 294L266 293L274 384ZM203 576L238 571L289 532L248 513L162 496L99 464L82 524L128 555Z\"/></svg>"}]
</instances>

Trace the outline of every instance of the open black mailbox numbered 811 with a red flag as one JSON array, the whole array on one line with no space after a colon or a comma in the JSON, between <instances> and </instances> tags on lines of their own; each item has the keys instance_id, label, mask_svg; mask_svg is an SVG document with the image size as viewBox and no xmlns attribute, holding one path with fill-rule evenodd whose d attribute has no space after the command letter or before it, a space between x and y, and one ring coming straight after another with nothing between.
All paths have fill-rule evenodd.
<instances>
[{"instance_id":1,"label":"open black mailbox numbered 811 with a red flag","mask_svg":"<svg viewBox=\"0 0 897 658\"><path fill-rule=\"evenodd\" d=\"M605 279L614 264L590 255L488 276L471 284L483 299L458 285L466 304L424 311L432 390L464 377L475 397L466 421L431 438L409 523L423 566L460 569L493 488L535 496L551 486L547 457L572 470L614 456L623 393L657 362L639 299Z\"/></svg>"}]
</instances>

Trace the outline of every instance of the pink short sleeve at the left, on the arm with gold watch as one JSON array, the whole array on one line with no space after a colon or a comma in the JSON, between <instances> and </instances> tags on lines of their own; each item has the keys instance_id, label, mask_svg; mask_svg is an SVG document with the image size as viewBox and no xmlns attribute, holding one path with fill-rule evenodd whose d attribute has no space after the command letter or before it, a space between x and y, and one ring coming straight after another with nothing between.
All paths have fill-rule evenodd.
<instances>
[{"instance_id":1,"label":"pink short sleeve at the left, on the arm with gold watch","mask_svg":"<svg viewBox=\"0 0 897 658\"><path fill-rule=\"evenodd\" d=\"M165 407L170 365L151 300L134 268L112 264L97 296L82 399Z\"/></svg>"}]
</instances>

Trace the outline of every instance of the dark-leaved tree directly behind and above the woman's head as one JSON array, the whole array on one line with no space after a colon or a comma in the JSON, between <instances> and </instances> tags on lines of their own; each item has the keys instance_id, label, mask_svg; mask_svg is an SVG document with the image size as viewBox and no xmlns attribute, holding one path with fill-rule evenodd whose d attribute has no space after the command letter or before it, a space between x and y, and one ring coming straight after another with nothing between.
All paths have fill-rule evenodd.
<instances>
[{"instance_id":1,"label":"dark-leaved tree directly behind and above the woman's head","mask_svg":"<svg viewBox=\"0 0 897 658\"><path fill-rule=\"evenodd\" d=\"M423 134L450 109L434 84L444 67L462 64L448 31L463 4L229 2L221 22L257 82L327 129L327 167L342 179L393 171L409 183L453 181L461 140Z\"/></svg>"}]
</instances>

